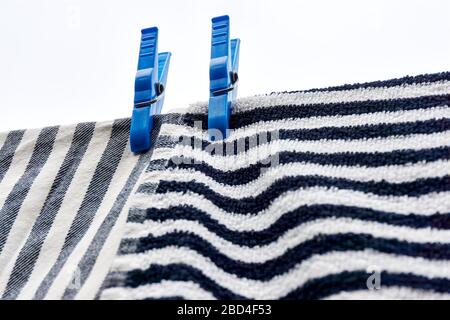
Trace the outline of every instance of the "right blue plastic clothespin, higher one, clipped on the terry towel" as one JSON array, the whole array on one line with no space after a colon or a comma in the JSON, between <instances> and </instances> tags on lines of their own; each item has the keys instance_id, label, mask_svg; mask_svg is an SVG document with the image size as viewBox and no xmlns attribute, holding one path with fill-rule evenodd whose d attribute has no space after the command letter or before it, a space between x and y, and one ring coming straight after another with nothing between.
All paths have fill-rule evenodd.
<instances>
[{"instance_id":1,"label":"right blue plastic clothespin, higher one, clipped on the terry towel","mask_svg":"<svg viewBox=\"0 0 450 320\"><path fill-rule=\"evenodd\" d=\"M230 41L230 18L212 19L211 63L209 67L208 129L228 137L230 115L237 95L239 39ZM211 139L217 135L210 131Z\"/></svg>"}]
</instances>

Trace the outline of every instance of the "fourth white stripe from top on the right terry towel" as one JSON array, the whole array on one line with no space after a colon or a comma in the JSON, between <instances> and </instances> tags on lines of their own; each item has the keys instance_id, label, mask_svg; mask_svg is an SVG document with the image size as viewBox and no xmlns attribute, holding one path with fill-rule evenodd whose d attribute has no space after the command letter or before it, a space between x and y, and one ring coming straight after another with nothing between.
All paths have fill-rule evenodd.
<instances>
[{"instance_id":1,"label":"fourth white stripe from top on the right terry towel","mask_svg":"<svg viewBox=\"0 0 450 320\"><path fill-rule=\"evenodd\" d=\"M348 167L328 166L305 163L288 163L277 165L264 171L257 179L242 185L227 185L217 182L206 174L193 169L170 169L150 171L145 174L145 182L160 181L203 183L212 191L233 199L256 197L266 191L275 182L288 177L323 176L343 178L361 182L403 183L417 179L434 178L450 175L450 161L419 162L412 165L384 167Z\"/></svg>"}]
</instances>

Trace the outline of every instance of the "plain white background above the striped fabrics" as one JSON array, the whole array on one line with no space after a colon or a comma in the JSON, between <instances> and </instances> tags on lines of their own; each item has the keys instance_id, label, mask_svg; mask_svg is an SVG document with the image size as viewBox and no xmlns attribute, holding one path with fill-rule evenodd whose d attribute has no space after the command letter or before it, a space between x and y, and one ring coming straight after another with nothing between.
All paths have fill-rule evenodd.
<instances>
[{"instance_id":1,"label":"plain white background above the striped fabrics","mask_svg":"<svg viewBox=\"0 0 450 320\"><path fill-rule=\"evenodd\" d=\"M450 70L445 0L1 0L0 131L129 117L150 26L173 54L164 112L206 101L222 14L240 97Z\"/></svg>"}]
</instances>

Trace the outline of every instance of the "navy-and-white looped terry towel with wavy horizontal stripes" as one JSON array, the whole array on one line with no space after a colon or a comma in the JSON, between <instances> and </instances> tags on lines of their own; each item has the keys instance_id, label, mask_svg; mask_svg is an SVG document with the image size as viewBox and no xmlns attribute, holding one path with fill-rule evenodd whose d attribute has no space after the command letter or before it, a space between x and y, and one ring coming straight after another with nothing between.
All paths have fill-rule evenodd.
<instances>
[{"instance_id":1,"label":"navy-and-white looped terry towel with wavy horizontal stripes","mask_svg":"<svg viewBox=\"0 0 450 320\"><path fill-rule=\"evenodd\" d=\"M100 298L450 298L450 73L161 121Z\"/></svg>"}]
</instances>

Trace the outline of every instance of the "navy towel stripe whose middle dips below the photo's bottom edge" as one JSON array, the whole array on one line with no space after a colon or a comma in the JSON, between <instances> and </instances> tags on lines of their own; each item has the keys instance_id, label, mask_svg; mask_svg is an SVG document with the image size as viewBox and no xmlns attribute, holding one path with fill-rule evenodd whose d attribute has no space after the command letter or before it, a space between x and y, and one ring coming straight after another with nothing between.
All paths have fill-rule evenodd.
<instances>
[{"instance_id":1,"label":"navy towel stripe whose middle dips below the photo's bottom edge","mask_svg":"<svg viewBox=\"0 0 450 320\"><path fill-rule=\"evenodd\" d=\"M370 276L370 273L363 270L330 274L308 280L282 299L321 299L340 292L367 290L366 281ZM380 279L381 288L406 287L429 292L450 292L450 280L445 278L427 278L406 273L381 272ZM125 286L137 288L141 285L159 283L164 280L195 282L202 289L211 292L217 299L247 298L220 286L200 270L184 264L152 265L146 270L130 271L126 274Z\"/></svg>"}]
</instances>

